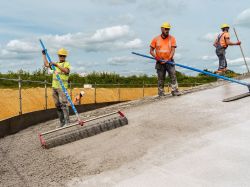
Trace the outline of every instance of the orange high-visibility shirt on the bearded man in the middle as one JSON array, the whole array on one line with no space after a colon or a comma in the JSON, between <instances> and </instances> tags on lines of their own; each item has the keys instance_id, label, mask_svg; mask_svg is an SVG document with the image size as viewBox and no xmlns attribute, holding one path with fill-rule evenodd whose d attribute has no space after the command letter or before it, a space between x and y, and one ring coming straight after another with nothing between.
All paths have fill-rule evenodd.
<instances>
[{"instance_id":1,"label":"orange high-visibility shirt on the bearded man in the middle","mask_svg":"<svg viewBox=\"0 0 250 187\"><path fill-rule=\"evenodd\" d=\"M163 39L161 35L155 37L150 46L155 49L156 56L163 60L171 60L170 54L172 47L177 47L175 37L171 35L168 35L165 39Z\"/></svg>"}]
</instances>

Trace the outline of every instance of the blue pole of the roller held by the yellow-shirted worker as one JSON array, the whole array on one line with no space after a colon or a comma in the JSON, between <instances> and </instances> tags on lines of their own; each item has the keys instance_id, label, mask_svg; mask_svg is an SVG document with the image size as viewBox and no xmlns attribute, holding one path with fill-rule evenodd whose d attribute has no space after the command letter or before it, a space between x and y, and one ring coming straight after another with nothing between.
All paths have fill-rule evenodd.
<instances>
[{"instance_id":1,"label":"blue pole of the roller held by the yellow-shirted worker","mask_svg":"<svg viewBox=\"0 0 250 187\"><path fill-rule=\"evenodd\" d=\"M44 46L42 40L40 39L39 41L40 41L40 44L41 44L43 50L45 51L45 54L46 54L46 57L47 57L49 63L51 63L52 61L51 61L51 58L50 58L50 56L49 56L49 54L48 54L48 52L47 52L47 49L45 48L45 46ZM56 68L55 68L55 66L54 66L53 64L51 65L51 68L52 68L52 70L56 71ZM56 73L56 78L57 78L57 80L59 81L59 83L60 83L60 85L61 85L61 87L62 87L62 90L63 90L64 94L66 95L67 100L69 101L69 103L70 103L70 105L71 105L71 107L72 107L72 109L73 109L73 111L74 111L76 117L78 118L78 121L80 121L80 117L79 117L79 115L78 115L78 112L77 112L77 110L76 110L76 107L75 107L75 105L73 104L73 102L72 102L72 100L71 100L71 98L70 98L70 96L69 96L69 94L68 94L68 92L67 92L67 89L65 88L65 86L64 86L64 84L63 84L63 82L62 82L60 76L59 76L57 73Z\"/></svg>"}]
</instances>

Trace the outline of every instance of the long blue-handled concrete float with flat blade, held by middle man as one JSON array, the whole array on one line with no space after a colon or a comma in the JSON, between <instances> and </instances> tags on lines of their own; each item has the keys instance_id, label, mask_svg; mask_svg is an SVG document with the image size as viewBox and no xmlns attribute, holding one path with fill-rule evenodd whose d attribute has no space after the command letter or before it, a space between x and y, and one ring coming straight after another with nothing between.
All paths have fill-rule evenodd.
<instances>
[{"instance_id":1,"label":"long blue-handled concrete float with flat blade, held by middle man","mask_svg":"<svg viewBox=\"0 0 250 187\"><path fill-rule=\"evenodd\" d=\"M155 59L152 56L148 56L148 55L144 55L144 54L140 54L140 53L132 52L132 54L138 55L138 56L141 56L141 57L145 57L145 58L149 58L149 59ZM193 68L193 67L189 67L189 66L185 66L185 65L182 65L182 64L174 63L172 61L166 61L166 60L160 60L160 61L164 62L164 63L169 63L169 64L172 64L172 65L176 65L176 66L179 66L179 67L182 67L182 68L185 68L185 69L189 69L189 70L192 70L192 71L196 71L196 72L199 72L199 73L203 73L203 74L206 74L206 75L209 75L209 76L212 76L212 77L223 79L223 80L226 80L226 81L229 81L229 82L233 82L233 83L237 83L237 84L240 84L240 85L243 85L243 86L247 86L247 88L248 88L247 93L240 94L240 95L237 95L237 96L234 96L234 97L226 98L226 99L223 100L223 102L234 101L234 100L238 100L238 99L242 99L244 97L250 96L250 84L247 83L247 82L232 79L232 78L228 78L228 77L221 76L221 75L217 75L217 74L214 74L214 73L210 73L208 71L203 71L203 70Z\"/></svg>"}]
</instances>

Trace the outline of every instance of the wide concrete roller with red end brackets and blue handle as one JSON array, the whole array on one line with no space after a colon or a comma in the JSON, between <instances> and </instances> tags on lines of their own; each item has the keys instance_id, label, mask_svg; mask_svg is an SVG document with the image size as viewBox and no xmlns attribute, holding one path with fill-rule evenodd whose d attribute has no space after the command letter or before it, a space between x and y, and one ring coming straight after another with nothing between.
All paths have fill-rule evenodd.
<instances>
[{"instance_id":1,"label":"wide concrete roller with red end brackets and blue handle","mask_svg":"<svg viewBox=\"0 0 250 187\"><path fill-rule=\"evenodd\" d=\"M60 83L60 86L64 92L64 94L67 97L68 102L70 103L78 122L75 124L71 124L65 127L57 128L55 130L49 131L49 132L44 132L39 134L39 139L43 147L50 148L54 147L57 145L62 145L68 142L72 142L75 140L79 140L88 136L92 136L94 134L98 134L103 131L107 131L113 128L117 128L123 125L128 124L128 120L125 117L125 115L118 111L118 112L113 112L109 114L105 114L96 118L92 118L86 121L83 121L80 119L79 114L67 92L67 89L65 88L59 74L56 72L56 69L53 64L51 64L51 58L47 52L47 49L45 48L42 40L39 40L40 44L42 46L42 49L46 53L46 57L51 65L51 68L53 71L55 71L56 78ZM114 115L119 114L117 117L112 117ZM99 120L99 121L98 121ZM90 123L93 122L90 125L84 126L85 123ZM96 123L94 123L96 122ZM97 123L98 122L98 123ZM94 129L94 130L93 130ZM99 129L99 130L98 130ZM94 132L94 133L93 133Z\"/></svg>"}]
</instances>

